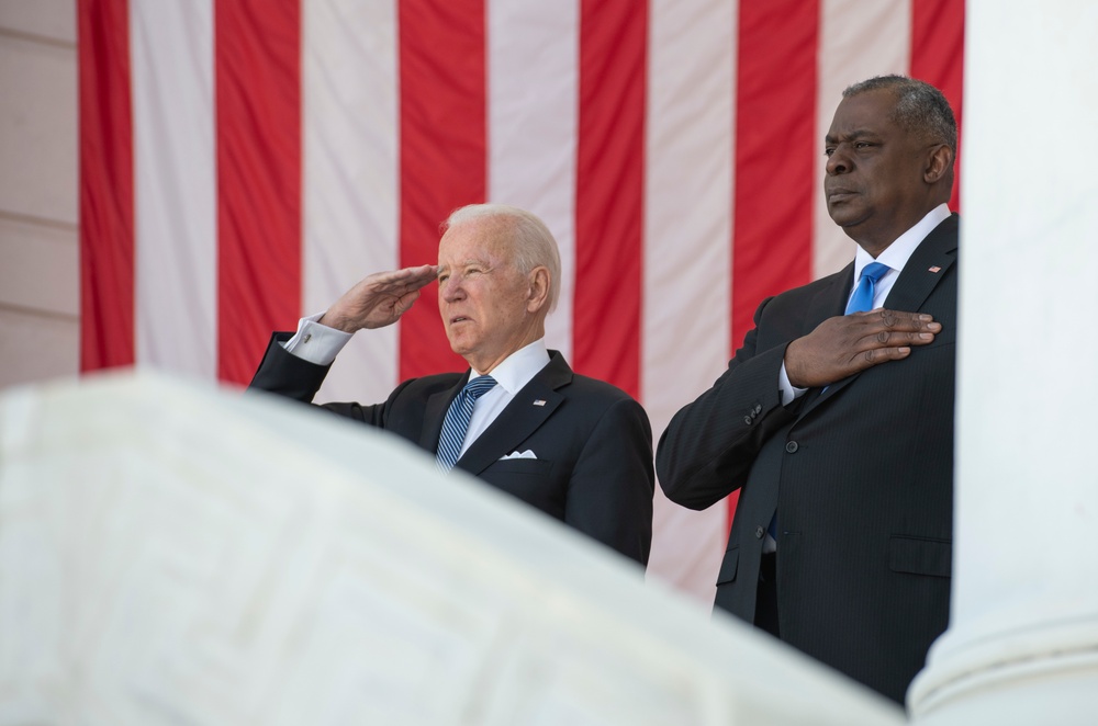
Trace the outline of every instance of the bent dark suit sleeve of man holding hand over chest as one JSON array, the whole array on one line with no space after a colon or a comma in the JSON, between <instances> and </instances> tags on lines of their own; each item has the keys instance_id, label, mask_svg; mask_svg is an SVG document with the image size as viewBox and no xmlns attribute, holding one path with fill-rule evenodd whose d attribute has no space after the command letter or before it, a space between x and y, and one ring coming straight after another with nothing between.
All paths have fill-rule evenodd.
<instances>
[{"instance_id":1,"label":"bent dark suit sleeve of man holding hand over chest","mask_svg":"<svg viewBox=\"0 0 1098 726\"><path fill-rule=\"evenodd\" d=\"M777 384L786 343L757 351L769 302L725 373L675 413L660 438L656 467L675 503L706 509L742 487L762 445L795 418L799 401L782 406Z\"/></svg>"}]
</instances>

